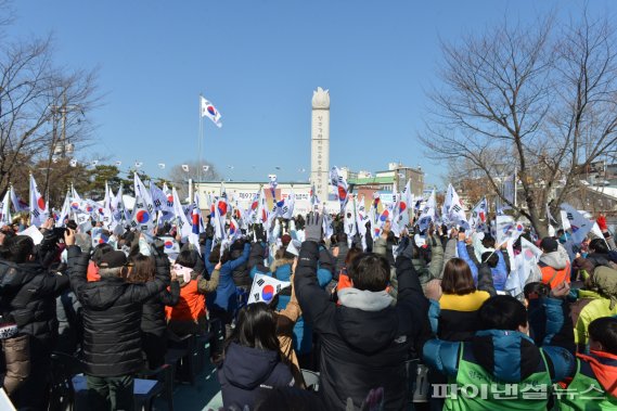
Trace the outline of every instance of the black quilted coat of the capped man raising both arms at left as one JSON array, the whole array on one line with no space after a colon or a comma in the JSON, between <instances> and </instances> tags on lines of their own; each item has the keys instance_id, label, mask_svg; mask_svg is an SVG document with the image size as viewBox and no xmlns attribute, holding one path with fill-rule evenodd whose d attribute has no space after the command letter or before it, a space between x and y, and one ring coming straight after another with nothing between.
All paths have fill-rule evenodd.
<instances>
[{"instance_id":1,"label":"black quilted coat of the capped man raising both arms at left","mask_svg":"<svg viewBox=\"0 0 617 411\"><path fill-rule=\"evenodd\" d=\"M88 255L68 247L70 286L83 307L82 360L93 376L133 374L143 368L141 312L143 303L169 284L169 259L157 257L156 277L145 284L120 278L88 282Z\"/></svg>"}]
</instances>

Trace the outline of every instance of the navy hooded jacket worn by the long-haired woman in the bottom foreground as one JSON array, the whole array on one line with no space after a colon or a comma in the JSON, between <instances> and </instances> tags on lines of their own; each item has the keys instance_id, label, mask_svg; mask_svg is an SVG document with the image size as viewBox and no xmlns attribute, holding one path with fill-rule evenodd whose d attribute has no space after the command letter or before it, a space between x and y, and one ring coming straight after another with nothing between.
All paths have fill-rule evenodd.
<instances>
[{"instance_id":1,"label":"navy hooded jacket worn by the long-haired woman in the bottom foreground","mask_svg":"<svg viewBox=\"0 0 617 411\"><path fill-rule=\"evenodd\" d=\"M249 364L249 365L247 365ZM224 409L242 410L265 398L269 390L294 384L290 368L281 362L279 351L244 347L231 343L217 372Z\"/></svg>"}]
</instances>

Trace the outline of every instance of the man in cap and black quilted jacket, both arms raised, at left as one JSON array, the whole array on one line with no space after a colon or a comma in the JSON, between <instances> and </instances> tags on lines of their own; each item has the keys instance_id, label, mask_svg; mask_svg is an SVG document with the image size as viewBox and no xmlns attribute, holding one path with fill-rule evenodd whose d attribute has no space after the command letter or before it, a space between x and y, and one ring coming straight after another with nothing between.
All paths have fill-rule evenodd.
<instances>
[{"instance_id":1,"label":"man in cap and black quilted jacket, both arms raised, at left","mask_svg":"<svg viewBox=\"0 0 617 411\"><path fill-rule=\"evenodd\" d=\"M83 363L92 410L132 410L133 375L143 365L141 350L141 305L169 284L169 260L156 256L156 277L143 284L128 284L121 278L127 257L110 252L99 262L101 281L88 282L88 255L75 246L73 231L68 246L70 286L83 307ZM110 404L111 402L111 404Z\"/></svg>"}]
</instances>

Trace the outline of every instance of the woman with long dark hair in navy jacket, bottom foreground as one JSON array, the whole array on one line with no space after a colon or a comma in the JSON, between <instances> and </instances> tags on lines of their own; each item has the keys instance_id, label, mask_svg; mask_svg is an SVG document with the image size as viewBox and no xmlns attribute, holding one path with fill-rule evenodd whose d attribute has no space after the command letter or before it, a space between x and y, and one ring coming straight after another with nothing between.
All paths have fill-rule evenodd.
<instances>
[{"instance_id":1,"label":"woman with long dark hair in navy jacket, bottom foreground","mask_svg":"<svg viewBox=\"0 0 617 411\"><path fill-rule=\"evenodd\" d=\"M265 303L240 310L224 344L218 378L226 409L253 409L270 389L294 384L290 368L281 361L277 317Z\"/></svg>"}]
</instances>

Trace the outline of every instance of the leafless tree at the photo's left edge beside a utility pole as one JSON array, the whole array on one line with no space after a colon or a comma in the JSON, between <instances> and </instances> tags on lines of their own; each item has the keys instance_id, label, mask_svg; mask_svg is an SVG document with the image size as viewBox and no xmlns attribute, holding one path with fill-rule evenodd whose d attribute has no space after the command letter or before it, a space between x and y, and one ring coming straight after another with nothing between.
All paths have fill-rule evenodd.
<instances>
[{"instance_id":1,"label":"leafless tree at the photo's left edge beside a utility pole","mask_svg":"<svg viewBox=\"0 0 617 411\"><path fill-rule=\"evenodd\" d=\"M0 24L8 22L3 7L0 2ZM88 136L91 125L83 113L97 101L95 73L55 65L51 38L2 38L0 193L35 171L35 164L47 170L41 184L47 193L54 165Z\"/></svg>"}]
</instances>

